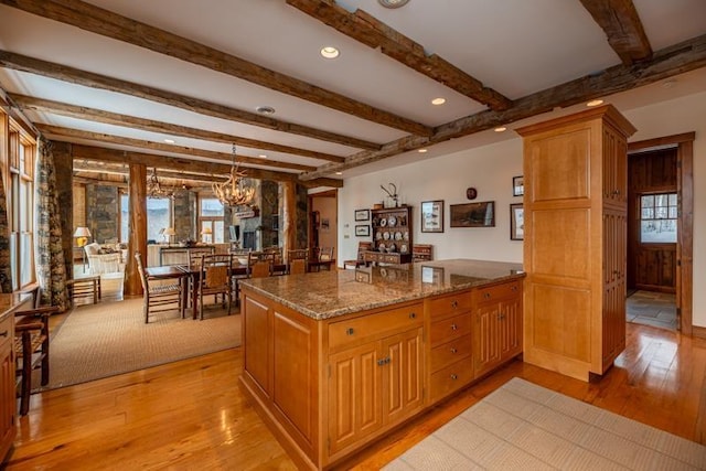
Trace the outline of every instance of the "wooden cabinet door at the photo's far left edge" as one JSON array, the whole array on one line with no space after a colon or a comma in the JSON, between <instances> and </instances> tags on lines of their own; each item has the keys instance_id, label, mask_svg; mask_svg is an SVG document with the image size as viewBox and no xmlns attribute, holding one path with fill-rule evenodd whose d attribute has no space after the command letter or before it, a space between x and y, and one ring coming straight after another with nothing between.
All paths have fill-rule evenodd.
<instances>
[{"instance_id":1,"label":"wooden cabinet door at the photo's far left edge","mask_svg":"<svg viewBox=\"0 0 706 471\"><path fill-rule=\"evenodd\" d=\"M14 355L12 332L0 327L0 461L12 446L15 433L17 400L14 396Z\"/></svg>"}]
</instances>

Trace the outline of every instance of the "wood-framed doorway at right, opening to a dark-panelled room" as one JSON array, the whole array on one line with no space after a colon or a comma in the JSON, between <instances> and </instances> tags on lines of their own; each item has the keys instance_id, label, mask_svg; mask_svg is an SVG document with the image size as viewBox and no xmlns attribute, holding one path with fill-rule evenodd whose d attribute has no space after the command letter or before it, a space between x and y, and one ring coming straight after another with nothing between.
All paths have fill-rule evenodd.
<instances>
[{"instance_id":1,"label":"wood-framed doorway at right, opening to a dark-panelled room","mask_svg":"<svg viewBox=\"0 0 706 471\"><path fill-rule=\"evenodd\" d=\"M693 132L629 146L627 320L692 335Z\"/></svg>"}]
</instances>

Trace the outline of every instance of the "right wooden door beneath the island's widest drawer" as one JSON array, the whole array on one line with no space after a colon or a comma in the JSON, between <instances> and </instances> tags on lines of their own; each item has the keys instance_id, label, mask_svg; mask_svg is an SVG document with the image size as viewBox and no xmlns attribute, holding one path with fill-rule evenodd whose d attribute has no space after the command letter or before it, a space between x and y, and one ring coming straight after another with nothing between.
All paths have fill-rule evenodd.
<instances>
[{"instance_id":1,"label":"right wooden door beneath the island's widest drawer","mask_svg":"<svg viewBox=\"0 0 706 471\"><path fill-rule=\"evenodd\" d=\"M421 328L383 341L385 424L413 415L422 405Z\"/></svg>"}]
</instances>

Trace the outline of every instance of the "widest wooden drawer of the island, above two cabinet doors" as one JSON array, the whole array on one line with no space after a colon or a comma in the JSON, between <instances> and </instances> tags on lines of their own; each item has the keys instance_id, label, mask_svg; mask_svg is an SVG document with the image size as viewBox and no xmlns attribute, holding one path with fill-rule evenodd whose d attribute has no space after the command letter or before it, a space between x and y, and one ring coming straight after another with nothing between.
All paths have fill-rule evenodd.
<instances>
[{"instance_id":1,"label":"widest wooden drawer of the island, above two cabinet doors","mask_svg":"<svg viewBox=\"0 0 706 471\"><path fill-rule=\"evenodd\" d=\"M422 306L392 309L377 314L363 315L329 324L329 346L346 346L382 338L386 332L421 327Z\"/></svg>"}]
</instances>

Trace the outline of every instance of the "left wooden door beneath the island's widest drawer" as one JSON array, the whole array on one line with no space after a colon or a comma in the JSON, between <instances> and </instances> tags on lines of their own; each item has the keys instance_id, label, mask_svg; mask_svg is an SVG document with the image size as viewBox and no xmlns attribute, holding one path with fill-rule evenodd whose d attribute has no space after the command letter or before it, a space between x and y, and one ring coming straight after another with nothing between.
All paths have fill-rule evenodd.
<instances>
[{"instance_id":1,"label":"left wooden door beneath the island's widest drawer","mask_svg":"<svg viewBox=\"0 0 706 471\"><path fill-rule=\"evenodd\" d=\"M383 425L379 342L329 356L329 454Z\"/></svg>"}]
</instances>

